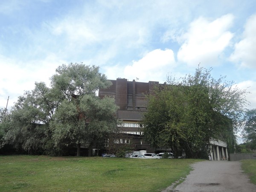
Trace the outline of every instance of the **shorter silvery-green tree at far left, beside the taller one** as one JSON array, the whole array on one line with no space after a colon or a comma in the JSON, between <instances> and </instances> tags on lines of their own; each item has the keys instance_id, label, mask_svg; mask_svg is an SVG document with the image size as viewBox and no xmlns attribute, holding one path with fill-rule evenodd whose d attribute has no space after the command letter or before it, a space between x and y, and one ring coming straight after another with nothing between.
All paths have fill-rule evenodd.
<instances>
[{"instance_id":1,"label":"shorter silvery-green tree at far left, beside the taller one","mask_svg":"<svg viewBox=\"0 0 256 192\"><path fill-rule=\"evenodd\" d=\"M51 90L45 83L35 83L35 89L18 98L11 113L6 116L6 133L2 146L12 145L17 151L42 154L51 142L49 121L56 108ZM52 148L50 149L52 150Z\"/></svg>"}]
</instances>

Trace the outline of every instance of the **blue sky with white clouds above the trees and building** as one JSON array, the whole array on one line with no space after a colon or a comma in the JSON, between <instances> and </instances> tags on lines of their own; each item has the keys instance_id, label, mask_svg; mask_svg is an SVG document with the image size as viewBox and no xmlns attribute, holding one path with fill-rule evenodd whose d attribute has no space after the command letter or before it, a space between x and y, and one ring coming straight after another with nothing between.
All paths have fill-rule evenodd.
<instances>
[{"instance_id":1,"label":"blue sky with white clouds above the trees and building","mask_svg":"<svg viewBox=\"0 0 256 192\"><path fill-rule=\"evenodd\" d=\"M160 83L200 63L256 108L256 1L0 0L0 108L70 62Z\"/></svg>"}]
</instances>

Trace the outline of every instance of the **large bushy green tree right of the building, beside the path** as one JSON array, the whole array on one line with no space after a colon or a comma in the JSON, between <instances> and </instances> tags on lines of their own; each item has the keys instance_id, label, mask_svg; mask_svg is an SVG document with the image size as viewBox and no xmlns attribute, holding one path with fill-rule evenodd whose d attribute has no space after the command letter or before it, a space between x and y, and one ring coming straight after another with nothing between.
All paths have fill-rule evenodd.
<instances>
[{"instance_id":1,"label":"large bushy green tree right of the building, beside the path","mask_svg":"<svg viewBox=\"0 0 256 192\"><path fill-rule=\"evenodd\" d=\"M166 85L155 88L143 120L151 145L172 147L176 156L183 149L188 157L208 157L210 140L233 135L247 103L246 90L223 77L215 80L210 72L198 67L194 76L168 77Z\"/></svg>"}]
</instances>

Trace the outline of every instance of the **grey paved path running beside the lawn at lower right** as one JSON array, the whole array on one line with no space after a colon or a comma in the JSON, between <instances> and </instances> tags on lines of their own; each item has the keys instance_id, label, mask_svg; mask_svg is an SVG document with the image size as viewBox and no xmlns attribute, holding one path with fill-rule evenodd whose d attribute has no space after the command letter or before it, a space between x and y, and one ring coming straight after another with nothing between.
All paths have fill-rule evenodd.
<instances>
[{"instance_id":1,"label":"grey paved path running beside the lawn at lower right","mask_svg":"<svg viewBox=\"0 0 256 192\"><path fill-rule=\"evenodd\" d=\"M256 192L239 161L202 161L193 169L183 183L163 192Z\"/></svg>"}]
</instances>

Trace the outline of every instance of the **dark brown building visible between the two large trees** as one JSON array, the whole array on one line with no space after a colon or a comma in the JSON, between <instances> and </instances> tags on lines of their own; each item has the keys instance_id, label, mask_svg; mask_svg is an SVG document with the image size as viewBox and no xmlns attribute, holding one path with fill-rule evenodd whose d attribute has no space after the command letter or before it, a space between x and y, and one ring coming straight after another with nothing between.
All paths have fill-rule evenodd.
<instances>
[{"instance_id":1,"label":"dark brown building visible between the two large trees","mask_svg":"<svg viewBox=\"0 0 256 192\"><path fill-rule=\"evenodd\" d=\"M147 110L145 96L153 94L153 87L159 85L159 82L149 81L145 83L120 78L110 81L112 82L111 87L100 89L99 97L112 96L115 98L116 105L119 106L117 118L123 122L119 127L120 131L132 136L132 143L134 143L136 150L154 152L154 148L151 148L143 139L143 125L140 122L143 113Z\"/></svg>"}]
</instances>

